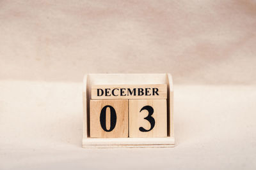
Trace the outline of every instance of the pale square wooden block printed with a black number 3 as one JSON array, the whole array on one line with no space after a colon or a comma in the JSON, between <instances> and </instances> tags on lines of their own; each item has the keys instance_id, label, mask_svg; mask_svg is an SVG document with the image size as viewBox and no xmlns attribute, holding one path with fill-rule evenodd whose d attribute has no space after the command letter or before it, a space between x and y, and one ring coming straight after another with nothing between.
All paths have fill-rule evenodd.
<instances>
[{"instance_id":1,"label":"pale square wooden block printed with a black number 3","mask_svg":"<svg viewBox=\"0 0 256 170\"><path fill-rule=\"evenodd\" d=\"M129 100L129 137L166 136L166 99Z\"/></svg>"}]
</instances>

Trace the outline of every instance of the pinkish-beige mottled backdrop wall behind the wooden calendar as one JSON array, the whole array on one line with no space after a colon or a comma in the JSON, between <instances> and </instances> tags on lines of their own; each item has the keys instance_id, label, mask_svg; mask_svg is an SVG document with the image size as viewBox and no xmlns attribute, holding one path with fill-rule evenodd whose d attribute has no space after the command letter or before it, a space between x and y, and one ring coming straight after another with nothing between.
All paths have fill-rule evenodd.
<instances>
[{"instance_id":1,"label":"pinkish-beige mottled backdrop wall behind the wooden calendar","mask_svg":"<svg viewBox=\"0 0 256 170\"><path fill-rule=\"evenodd\" d=\"M255 1L0 1L0 79L256 83Z\"/></svg>"}]
</instances>

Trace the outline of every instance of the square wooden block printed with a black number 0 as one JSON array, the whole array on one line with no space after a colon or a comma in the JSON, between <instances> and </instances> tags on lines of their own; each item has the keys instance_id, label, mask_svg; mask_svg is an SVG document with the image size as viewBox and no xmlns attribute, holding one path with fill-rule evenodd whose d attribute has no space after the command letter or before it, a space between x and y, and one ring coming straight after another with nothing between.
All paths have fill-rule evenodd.
<instances>
[{"instance_id":1,"label":"square wooden block printed with a black number 0","mask_svg":"<svg viewBox=\"0 0 256 170\"><path fill-rule=\"evenodd\" d=\"M128 138L128 100L91 100L90 138Z\"/></svg>"}]
</instances>

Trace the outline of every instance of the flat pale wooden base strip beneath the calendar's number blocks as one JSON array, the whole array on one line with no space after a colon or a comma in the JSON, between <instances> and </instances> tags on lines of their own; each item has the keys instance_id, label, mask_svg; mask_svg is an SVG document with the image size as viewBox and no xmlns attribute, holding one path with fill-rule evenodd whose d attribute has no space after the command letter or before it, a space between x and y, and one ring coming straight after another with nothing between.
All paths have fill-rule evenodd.
<instances>
[{"instance_id":1,"label":"flat pale wooden base strip beneath the calendar's number blocks","mask_svg":"<svg viewBox=\"0 0 256 170\"><path fill-rule=\"evenodd\" d=\"M84 138L83 148L171 148L174 138Z\"/></svg>"}]
</instances>

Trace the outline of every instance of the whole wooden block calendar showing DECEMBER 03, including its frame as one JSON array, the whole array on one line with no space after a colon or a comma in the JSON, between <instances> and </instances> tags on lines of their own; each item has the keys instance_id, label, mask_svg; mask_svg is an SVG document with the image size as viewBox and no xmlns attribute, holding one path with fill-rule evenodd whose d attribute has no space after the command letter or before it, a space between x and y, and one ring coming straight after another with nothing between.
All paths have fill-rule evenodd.
<instances>
[{"instance_id":1,"label":"whole wooden block calendar showing DECEMBER 03, including its frame","mask_svg":"<svg viewBox=\"0 0 256 170\"><path fill-rule=\"evenodd\" d=\"M170 74L86 74L83 147L173 147Z\"/></svg>"}]
</instances>

